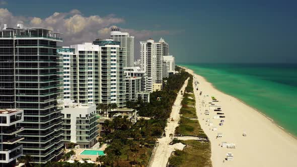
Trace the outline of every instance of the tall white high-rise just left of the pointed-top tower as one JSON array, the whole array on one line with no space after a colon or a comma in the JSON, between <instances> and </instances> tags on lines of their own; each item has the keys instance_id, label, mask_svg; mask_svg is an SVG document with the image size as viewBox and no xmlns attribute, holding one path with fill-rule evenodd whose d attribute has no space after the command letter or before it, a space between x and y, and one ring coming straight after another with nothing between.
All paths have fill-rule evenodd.
<instances>
[{"instance_id":1,"label":"tall white high-rise just left of the pointed-top tower","mask_svg":"<svg viewBox=\"0 0 297 167\"><path fill-rule=\"evenodd\" d=\"M140 42L141 70L146 72L146 90L149 92L162 89L163 44L153 39Z\"/></svg>"}]
</instances>

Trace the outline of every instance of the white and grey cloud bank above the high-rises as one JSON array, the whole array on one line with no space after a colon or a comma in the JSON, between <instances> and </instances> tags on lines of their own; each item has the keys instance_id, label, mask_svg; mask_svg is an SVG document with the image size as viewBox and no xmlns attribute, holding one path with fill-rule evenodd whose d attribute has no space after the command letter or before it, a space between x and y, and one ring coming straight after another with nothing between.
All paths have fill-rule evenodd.
<instances>
[{"instance_id":1,"label":"white and grey cloud bank above the high-rises","mask_svg":"<svg viewBox=\"0 0 297 167\"><path fill-rule=\"evenodd\" d=\"M109 38L109 31L112 26L122 24L125 20L115 15L107 16L84 16L79 10L73 9L70 12L55 12L47 18L14 16L9 10L0 8L0 26L7 24L9 27L15 27L17 24L24 24L24 27L44 27L62 33L64 43L68 46L71 44L80 44L91 42L96 38ZM122 29L123 32L129 32L135 37L136 50L139 41L146 40L153 36L173 35L174 31L151 31L151 30L134 30ZM155 39L159 40L159 39ZM136 51L135 53L138 54Z\"/></svg>"}]
</instances>

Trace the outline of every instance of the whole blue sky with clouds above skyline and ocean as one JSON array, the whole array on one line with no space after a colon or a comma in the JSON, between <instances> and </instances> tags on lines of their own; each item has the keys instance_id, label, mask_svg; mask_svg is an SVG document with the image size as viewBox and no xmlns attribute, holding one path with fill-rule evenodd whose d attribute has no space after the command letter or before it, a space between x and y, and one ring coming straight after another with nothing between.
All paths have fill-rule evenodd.
<instances>
[{"instance_id":1,"label":"whole blue sky with clouds above skyline and ocean","mask_svg":"<svg viewBox=\"0 0 297 167\"><path fill-rule=\"evenodd\" d=\"M112 26L139 41L161 37L177 63L297 63L297 2L0 0L0 27L63 33L63 46L108 38Z\"/></svg>"}]
</instances>

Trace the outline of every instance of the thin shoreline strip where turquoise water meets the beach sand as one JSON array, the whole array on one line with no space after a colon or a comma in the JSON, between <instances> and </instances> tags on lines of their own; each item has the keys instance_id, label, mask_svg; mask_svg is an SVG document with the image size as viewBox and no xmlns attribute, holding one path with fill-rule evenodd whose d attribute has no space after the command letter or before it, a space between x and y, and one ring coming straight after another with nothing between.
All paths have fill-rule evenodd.
<instances>
[{"instance_id":1,"label":"thin shoreline strip where turquoise water meets the beach sand","mask_svg":"<svg viewBox=\"0 0 297 167\"><path fill-rule=\"evenodd\" d=\"M178 66L181 67L181 68L184 68L184 69L191 70L194 74L199 75L199 74L195 73L192 69L190 69L190 68L188 68L188 67L184 67L184 66L180 66L180 65L178 65ZM264 114L263 112L261 112L261 111L259 111L258 109L256 109L256 108L250 106L249 104L247 104L246 102L240 100L239 98L234 97L234 96L232 96L232 95L229 95L229 94L225 93L224 91L219 90L219 89L216 88L211 82L209 82L204 76L202 76L202 75L199 75L199 76L201 76L202 78L204 78L205 81L208 82L208 83L211 85L211 87L212 87L213 89L217 90L218 92L220 92L220 93L222 93L222 94L225 94L225 95L227 95L227 96L230 96L230 97L232 97L232 98L238 100L238 101L241 102L242 104L244 104L244 105L250 107L250 108L253 109L254 111L256 111L256 112L258 112L259 114L261 114L262 116L264 116L266 119L268 119L269 121L271 121L271 123L273 123L274 125L276 125L277 128L283 130L285 133L287 133L288 135L292 136L293 138L295 138L295 139L297 140L297 136L294 136L293 134L291 134L288 130L286 130L284 127L280 126L279 124L277 124L272 118L268 117L268 116L267 116L266 114Z\"/></svg>"}]
</instances>

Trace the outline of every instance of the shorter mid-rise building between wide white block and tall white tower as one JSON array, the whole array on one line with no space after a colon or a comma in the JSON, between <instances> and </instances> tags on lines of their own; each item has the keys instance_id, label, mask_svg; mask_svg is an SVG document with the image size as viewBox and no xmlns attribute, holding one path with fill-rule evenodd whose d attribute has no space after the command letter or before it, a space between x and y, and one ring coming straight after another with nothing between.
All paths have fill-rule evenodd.
<instances>
[{"instance_id":1,"label":"shorter mid-rise building between wide white block and tall white tower","mask_svg":"<svg viewBox=\"0 0 297 167\"><path fill-rule=\"evenodd\" d=\"M150 93L146 91L146 74L139 67L124 68L126 74L126 101L142 100L150 102Z\"/></svg>"}]
</instances>

